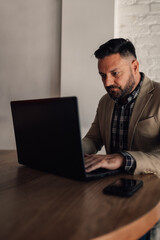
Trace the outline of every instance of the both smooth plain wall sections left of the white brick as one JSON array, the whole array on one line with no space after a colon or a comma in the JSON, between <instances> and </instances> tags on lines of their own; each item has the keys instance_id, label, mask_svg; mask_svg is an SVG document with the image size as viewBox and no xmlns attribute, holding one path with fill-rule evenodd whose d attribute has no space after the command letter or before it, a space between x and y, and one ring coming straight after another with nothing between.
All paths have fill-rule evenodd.
<instances>
[{"instance_id":1,"label":"both smooth plain wall sections left of the white brick","mask_svg":"<svg viewBox=\"0 0 160 240\"><path fill-rule=\"evenodd\" d=\"M80 96L87 129L104 94L92 55L113 37L113 6L63 1L62 93ZM0 0L0 149L15 148L10 101L60 95L61 10L61 0Z\"/></svg>"}]
</instances>

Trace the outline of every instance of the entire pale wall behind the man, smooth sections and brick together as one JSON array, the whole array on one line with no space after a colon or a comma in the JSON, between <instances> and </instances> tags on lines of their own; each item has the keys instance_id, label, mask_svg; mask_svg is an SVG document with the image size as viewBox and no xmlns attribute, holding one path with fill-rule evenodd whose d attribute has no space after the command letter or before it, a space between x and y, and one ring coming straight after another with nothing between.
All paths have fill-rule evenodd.
<instances>
[{"instance_id":1,"label":"entire pale wall behind the man, smooth sections and brick together","mask_svg":"<svg viewBox=\"0 0 160 240\"><path fill-rule=\"evenodd\" d=\"M61 94L80 97L84 129L104 93L92 54L113 35L113 2L63 0ZM131 39L140 69L160 81L160 0L115 2L115 37ZM10 101L60 93L61 0L0 0L0 16L0 149L9 149Z\"/></svg>"}]
</instances>

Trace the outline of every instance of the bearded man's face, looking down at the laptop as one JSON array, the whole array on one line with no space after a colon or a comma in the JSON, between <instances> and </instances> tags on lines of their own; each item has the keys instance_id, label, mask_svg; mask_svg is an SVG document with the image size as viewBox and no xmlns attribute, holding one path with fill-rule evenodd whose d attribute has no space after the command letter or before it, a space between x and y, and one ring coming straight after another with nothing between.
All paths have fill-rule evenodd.
<instances>
[{"instance_id":1,"label":"bearded man's face, looking down at the laptop","mask_svg":"<svg viewBox=\"0 0 160 240\"><path fill-rule=\"evenodd\" d=\"M114 100L122 99L137 86L138 62L134 57L113 54L98 61L99 74L104 87Z\"/></svg>"}]
</instances>

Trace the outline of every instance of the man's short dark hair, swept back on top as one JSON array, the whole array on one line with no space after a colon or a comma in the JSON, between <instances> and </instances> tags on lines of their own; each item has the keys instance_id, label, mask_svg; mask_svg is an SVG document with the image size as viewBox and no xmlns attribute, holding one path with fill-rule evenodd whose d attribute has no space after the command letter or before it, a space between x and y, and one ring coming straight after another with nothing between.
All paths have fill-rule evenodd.
<instances>
[{"instance_id":1,"label":"man's short dark hair, swept back on top","mask_svg":"<svg viewBox=\"0 0 160 240\"><path fill-rule=\"evenodd\" d=\"M95 51L94 55L98 59L119 53L122 57L136 56L135 47L131 41L123 38L111 39L104 43Z\"/></svg>"}]
</instances>

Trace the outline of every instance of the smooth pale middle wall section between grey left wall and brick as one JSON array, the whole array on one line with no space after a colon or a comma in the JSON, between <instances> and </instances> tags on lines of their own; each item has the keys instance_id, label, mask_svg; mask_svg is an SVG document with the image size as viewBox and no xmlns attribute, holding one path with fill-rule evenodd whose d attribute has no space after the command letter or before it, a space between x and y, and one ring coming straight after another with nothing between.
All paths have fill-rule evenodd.
<instances>
[{"instance_id":1,"label":"smooth pale middle wall section between grey left wall and brick","mask_svg":"<svg viewBox=\"0 0 160 240\"><path fill-rule=\"evenodd\" d=\"M94 51L114 36L114 0L63 0L61 95L77 96L82 136L102 95Z\"/></svg>"}]
</instances>

